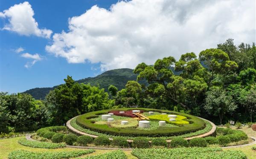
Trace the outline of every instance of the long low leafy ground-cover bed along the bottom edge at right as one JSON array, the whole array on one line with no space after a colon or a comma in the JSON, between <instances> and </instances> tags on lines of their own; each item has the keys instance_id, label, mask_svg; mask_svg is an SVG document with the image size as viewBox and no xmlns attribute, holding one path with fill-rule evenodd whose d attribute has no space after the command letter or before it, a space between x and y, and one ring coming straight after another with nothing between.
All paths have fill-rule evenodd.
<instances>
[{"instance_id":1,"label":"long low leafy ground-cover bed along the bottom edge at right","mask_svg":"<svg viewBox=\"0 0 256 159\"><path fill-rule=\"evenodd\" d=\"M247 159L242 151L221 148L151 148L134 149L131 153L138 159Z\"/></svg>"}]
</instances>

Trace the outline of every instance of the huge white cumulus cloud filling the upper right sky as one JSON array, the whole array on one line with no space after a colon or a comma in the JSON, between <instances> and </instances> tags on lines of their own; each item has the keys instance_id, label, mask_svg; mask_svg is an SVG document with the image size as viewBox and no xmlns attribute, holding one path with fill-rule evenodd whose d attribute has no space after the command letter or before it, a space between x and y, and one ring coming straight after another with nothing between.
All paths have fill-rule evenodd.
<instances>
[{"instance_id":1,"label":"huge white cumulus cloud filling the upper right sky","mask_svg":"<svg viewBox=\"0 0 256 159\"><path fill-rule=\"evenodd\" d=\"M255 41L255 1L131 0L93 6L69 19L46 50L69 63L100 63L102 70L216 47L227 38Z\"/></svg>"}]
</instances>

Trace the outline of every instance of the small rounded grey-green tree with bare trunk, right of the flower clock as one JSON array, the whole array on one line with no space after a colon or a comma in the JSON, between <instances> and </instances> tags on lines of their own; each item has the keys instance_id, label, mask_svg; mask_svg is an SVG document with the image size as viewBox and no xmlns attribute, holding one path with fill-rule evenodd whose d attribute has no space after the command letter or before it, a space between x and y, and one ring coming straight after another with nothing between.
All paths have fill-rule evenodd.
<instances>
[{"instance_id":1,"label":"small rounded grey-green tree with bare trunk, right of the flower clock","mask_svg":"<svg viewBox=\"0 0 256 159\"><path fill-rule=\"evenodd\" d=\"M209 114L219 116L220 124L222 124L223 115L235 111L237 105L223 88L213 87L207 92L204 108Z\"/></svg>"}]
</instances>

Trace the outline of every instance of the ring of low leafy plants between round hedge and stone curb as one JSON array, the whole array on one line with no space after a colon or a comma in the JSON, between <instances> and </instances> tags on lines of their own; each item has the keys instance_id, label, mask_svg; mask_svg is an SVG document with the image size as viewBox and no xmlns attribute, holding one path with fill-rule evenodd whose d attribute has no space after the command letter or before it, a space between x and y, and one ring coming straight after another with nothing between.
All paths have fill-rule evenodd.
<instances>
[{"instance_id":1,"label":"ring of low leafy plants between round hedge and stone curb","mask_svg":"<svg viewBox=\"0 0 256 159\"><path fill-rule=\"evenodd\" d=\"M199 131L195 131L195 132L192 132L192 133L186 133L186 134L180 135L180 137L182 137L182 138L187 138L187 137L197 136L197 135L201 135L201 134L204 134L204 133L209 132L209 131L212 129L212 125L211 125L209 122L207 122L207 121L205 121L205 123L206 123L206 127L205 127L204 129L199 130ZM72 120L70 121L70 125L71 125L73 128L75 128L76 130L79 130L79 131L84 132L84 133L89 133L89 134L91 134L91 135L106 136L106 137L108 137L108 138L114 138L114 137L116 137L116 136L114 136L114 135L105 134L105 133L99 133L99 132L96 132L96 131L93 131L93 130L90 130L90 129L87 129L87 128L83 128L83 127L81 127L80 125L78 125L78 124L76 123L76 118L74 118L74 119L72 119ZM130 139L130 140L133 140L133 139L134 139L134 137L132 137L132 136L122 136L122 137L125 137L125 139ZM149 140L152 140L152 139L154 139L154 138L157 138L157 139L161 138L161 139L169 140L169 139L173 139L174 136L147 137L147 138L148 138Z\"/></svg>"}]
</instances>

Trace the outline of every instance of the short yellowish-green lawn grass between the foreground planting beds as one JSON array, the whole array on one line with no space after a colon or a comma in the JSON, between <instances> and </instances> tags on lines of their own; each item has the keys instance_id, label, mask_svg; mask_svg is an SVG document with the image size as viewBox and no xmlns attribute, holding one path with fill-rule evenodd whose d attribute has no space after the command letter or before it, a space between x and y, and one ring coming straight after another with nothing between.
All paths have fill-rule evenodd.
<instances>
[{"instance_id":1,"label":"short yellowish-green lawn grass between the foreground planting beds","mask_svg":"<svg viewBox=\"0 0 256 159\"><path fill-rule=\"evenodd\" d=\"M239 130L244 131L245 133L248 134L248 136L256 137L256 132L253 132L251 128L247 128L244 126ZM30 148L30 147L26 147L18 144L17 141L20 138L24 138L24 136L9 138L9 139L0 139L0 159L7 159L8 154L11 151L20 150L20 149L29 150L33 152L44 152L44 151L58 152L58 151L77 150L76 148L58 148L58 149ZM251 145L251 146L246 146L241 148L225 148L224 150L241 150L247 155L248 159L256 159L256 152L251 149L253 146L256 146L256 145ZM110 151L112 150L96 150L96 152L90 153L88 154L88 156L102 154ZM137 159L137 157L131 155L131 150L125 150L124 152L128 156L128 159Z\"/></svg>"}]
</instances>

